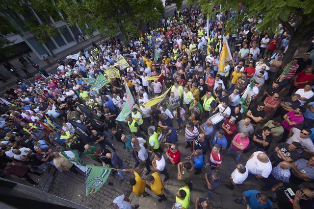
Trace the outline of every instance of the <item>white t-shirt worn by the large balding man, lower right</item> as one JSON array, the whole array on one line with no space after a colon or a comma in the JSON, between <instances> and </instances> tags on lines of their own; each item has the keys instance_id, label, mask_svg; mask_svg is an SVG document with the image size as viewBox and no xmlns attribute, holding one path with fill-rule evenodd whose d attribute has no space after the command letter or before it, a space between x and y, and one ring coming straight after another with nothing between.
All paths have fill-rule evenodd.
<instances>
[{"instance_id":1,"label":"white t-shirt worn by the large balding man, lower right","mask_svg":"<svg viewBox=\"0 0 314 209\"><path fill-rule=\"evenodd\" d=\"M246 162L245 166L248 168L250 173L254 175L262 174L264 178L268 178L269 174L271 173L272 166L269 159L267 163L262 163L257 159L257 156L260 153L263 152L254 152L253 157Z\"/></svg>"}]
</instances>

